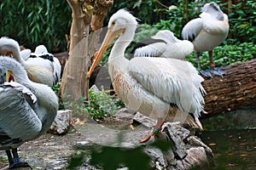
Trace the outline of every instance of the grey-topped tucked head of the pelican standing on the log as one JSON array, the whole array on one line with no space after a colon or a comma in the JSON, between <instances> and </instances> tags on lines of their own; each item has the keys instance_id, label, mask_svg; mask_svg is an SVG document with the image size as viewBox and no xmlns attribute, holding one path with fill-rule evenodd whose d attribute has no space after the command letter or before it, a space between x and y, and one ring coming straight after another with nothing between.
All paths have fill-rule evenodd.
<instances>
[{"instance_id":1,"label":"grey-topped tucked head of the pelican standing on the log","mask_svg":"<svg viewBox=\"0 0 256 170\"><path fill-rule=\"evenodd\" d=\"M224 13L219 8L217 3L206 3L204 7L201 9L201 12L211 14L217 20L224 20Z\"/></svg>"}]
</instances>

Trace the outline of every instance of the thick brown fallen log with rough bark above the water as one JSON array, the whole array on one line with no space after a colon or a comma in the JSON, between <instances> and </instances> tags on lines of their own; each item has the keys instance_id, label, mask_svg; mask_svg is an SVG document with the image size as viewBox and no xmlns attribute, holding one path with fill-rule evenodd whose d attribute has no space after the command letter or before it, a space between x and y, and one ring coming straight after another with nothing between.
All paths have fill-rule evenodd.
<instances>
[{"instance_id":1,"label":"thick brown fallen log with rough bark above the water","mask_svg":"<svg viewBox=\"0 0 256 170\"><path fill-rule=\"evenodd\" d=\"M215 116L256 103L256 59L221 67L224 77L213 77L202 83L206 89L202 117Z\"/></svg>"}]
</instances>

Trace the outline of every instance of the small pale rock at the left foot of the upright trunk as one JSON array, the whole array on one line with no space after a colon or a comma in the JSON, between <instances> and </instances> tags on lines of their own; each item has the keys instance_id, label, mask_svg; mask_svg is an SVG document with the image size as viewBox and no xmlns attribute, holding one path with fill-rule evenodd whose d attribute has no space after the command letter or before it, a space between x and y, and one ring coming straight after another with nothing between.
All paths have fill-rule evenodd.
<instances>
[{"instance_id":1,"label":"small pale rock at the left foot of the upright trunk","mask_svg":"<svg viewBox=\"0 0 256 170\"><path fill-rule=\"evenodd\" d=\"M72 111L58 111L55 121L49 127L49 133L64 134L67 133L72 121Z\"/></svg>"}]
</instances>

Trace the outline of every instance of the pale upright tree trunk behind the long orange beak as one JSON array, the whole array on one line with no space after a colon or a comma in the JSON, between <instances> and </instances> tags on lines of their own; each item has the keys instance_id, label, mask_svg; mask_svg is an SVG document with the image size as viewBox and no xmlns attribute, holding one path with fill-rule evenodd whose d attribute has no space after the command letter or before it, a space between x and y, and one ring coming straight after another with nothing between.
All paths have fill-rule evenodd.
<instances>
[{"instance_id":1,"label":"pale upright tree trunk behind the long orange beak","mask_svg":"<svg viewBox=\"0 0 256 170\"><path fill-rule=\"evenodd\" d=\"M73 11L73 22L70 30L68 59L61 78L61 94L67 95L73 101L88 96L88 81L86 73L90 65L90 57L96 52L96 44L100 31L91 34L102 27L102 23L113 1L108 0L67 0ZM103 4L103 5L102 5ZM92 18L99 20L91 23Z\"/></svg>"}]
</instances>

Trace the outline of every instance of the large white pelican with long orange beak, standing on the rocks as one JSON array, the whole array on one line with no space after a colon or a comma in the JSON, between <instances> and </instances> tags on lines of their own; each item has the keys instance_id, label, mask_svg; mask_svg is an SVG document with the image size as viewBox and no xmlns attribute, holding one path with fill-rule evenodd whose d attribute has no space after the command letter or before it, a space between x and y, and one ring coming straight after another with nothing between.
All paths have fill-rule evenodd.
<instances>
[{"instance_id":1,"label":"large white pelican with long orange beak, standing on the rocks","mask_svg":"<svg viewBox=\"0 0 256 170\"><path fill-rule=\"evenodd\" d=\"M198 117L203 111L203 78L193 65L180 59L126 59L125 48L132 41L136 28L136 18L125 9L113 14L108 22L107 35L96 53L87 77L90 77L113 39L120 35L108 59L113 88L131 111L139 111L157 119L154 132L141 142L158 133L163 122L173 121L173 117L175 121L188 122L202 128Z\"/></svg>"}]
</instances>

